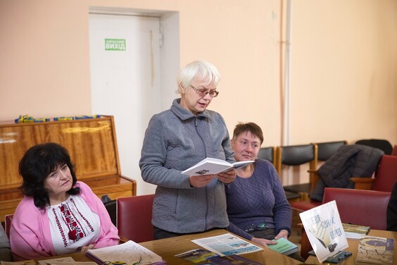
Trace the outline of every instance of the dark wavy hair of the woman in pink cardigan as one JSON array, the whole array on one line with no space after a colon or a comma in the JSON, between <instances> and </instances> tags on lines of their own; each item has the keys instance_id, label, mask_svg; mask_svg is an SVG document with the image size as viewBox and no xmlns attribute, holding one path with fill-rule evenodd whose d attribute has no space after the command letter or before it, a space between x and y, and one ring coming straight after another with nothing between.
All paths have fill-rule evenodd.
<instances>
[{"instance_id":1,"label":"dark wavy hair of the woman in pink cardigan","mask_svg":"<svg viewBox=\"0 0 397 265\"><path fill-rule=\"evenodd\" d=\"M50 205L48 191L44 188L44 180L63 164L70 168L74 186L77 182L75 166L70 161L68 150L60 144L47 142L34 145L20 160L19 173L23 178L20 190L25 196L33 198L37 208L45 209ZM80 187L72 187L67 193L70 195L80 194Z\"/></svg>"}]
</instances>

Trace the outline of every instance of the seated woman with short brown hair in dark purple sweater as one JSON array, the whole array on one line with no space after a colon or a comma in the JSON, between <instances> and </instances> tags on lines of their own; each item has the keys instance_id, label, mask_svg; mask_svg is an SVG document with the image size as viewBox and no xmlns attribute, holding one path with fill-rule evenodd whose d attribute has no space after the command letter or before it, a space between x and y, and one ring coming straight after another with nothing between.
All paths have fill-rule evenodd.
<instances>
[{"instance_id":1,"label":"seated woman with short brown hair in dark purple sweater","mask_svg":"<svg viewBox=\"0 0 397 265\"><path fill-rule=\"evenodd\" d=\"M260 245L291 234L291 206L275 167L257 159L263 132L256 123L239 123L234 128L232 149L236 161L255 160L237 169L233 183L225 186L228 230ZM304 261L297 253L294 259Z\"/></svg>"}]
</instances>

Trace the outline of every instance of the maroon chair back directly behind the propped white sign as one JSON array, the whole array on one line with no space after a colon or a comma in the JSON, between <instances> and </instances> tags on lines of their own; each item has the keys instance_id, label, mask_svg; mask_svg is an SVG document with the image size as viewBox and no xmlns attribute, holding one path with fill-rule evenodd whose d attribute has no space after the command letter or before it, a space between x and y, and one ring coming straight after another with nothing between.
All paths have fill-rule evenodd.
<instances>
[{"instance_id":1,"label":"maroon chair back directly behind the propped white sign","mask_svg":"<svg viewBox=\"0 0 397 265\"><path fill-rule=\"evenodd\" d=\"M322 203L336 201L342 223L386 230L386 209L391 192L326 187Z\"/></svg>"}]
</instances>

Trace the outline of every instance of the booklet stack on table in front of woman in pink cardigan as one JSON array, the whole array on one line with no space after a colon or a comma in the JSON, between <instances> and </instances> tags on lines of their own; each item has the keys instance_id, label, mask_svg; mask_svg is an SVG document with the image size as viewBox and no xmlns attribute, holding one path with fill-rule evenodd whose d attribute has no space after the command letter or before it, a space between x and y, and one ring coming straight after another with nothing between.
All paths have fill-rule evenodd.
<instances>
[{"instance_id":1,"label":"booklet stack on table in front of woman in pink cardigan","mask_svg":"<svg viewBox=\"0 0 397 265\"><path fill-rule=\"evenodd\" d=\"M105 261L122 261L125 264L166 264L158 254L132 240L111 247L89 249L86 253L100 265Z\"/></svg>"}]
</instances>

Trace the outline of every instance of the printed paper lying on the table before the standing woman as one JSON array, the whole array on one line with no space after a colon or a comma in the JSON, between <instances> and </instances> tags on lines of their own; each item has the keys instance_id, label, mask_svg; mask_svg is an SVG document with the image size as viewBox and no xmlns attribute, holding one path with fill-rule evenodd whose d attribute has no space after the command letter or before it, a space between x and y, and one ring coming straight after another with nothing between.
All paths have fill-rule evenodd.
<instances>
[{"instance_id":1,"label":"printed paper lying on the table before the standing woman","mask_svg":"<svg viewBox=\"0 0 397 265\"><path fill-rule=\"evenodd\" d=\"M230 233L224 235L216 235L209 238L191 240L191 242L194 242L195 244L204 247L211 252L215 252L220 256L228 256L232 254L249 253L263 250L262 248L253 245L246 240L237 238Z\"/></svg>"}]
</instances>

